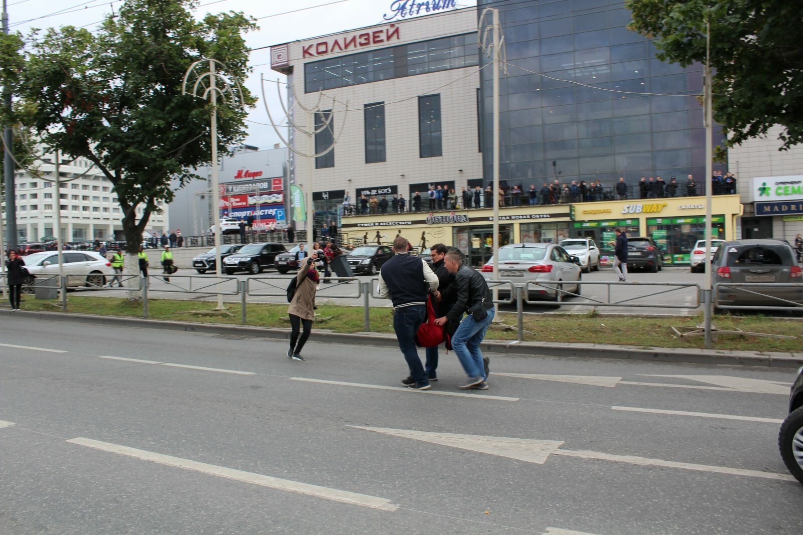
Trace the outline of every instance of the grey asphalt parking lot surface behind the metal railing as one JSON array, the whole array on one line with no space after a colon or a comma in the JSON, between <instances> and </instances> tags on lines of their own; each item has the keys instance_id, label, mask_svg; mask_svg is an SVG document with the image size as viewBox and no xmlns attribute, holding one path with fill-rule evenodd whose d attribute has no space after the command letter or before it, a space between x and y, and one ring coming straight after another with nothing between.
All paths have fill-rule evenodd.
<instances>
[{"instance_id":1,"label":"grey asphalt parking lot surface behind the metal railing","mask_svg":"<svg viewBox=\"0 0 803 535\"><path fill-rule=\"evenodd\" d=\"M281 275L275 270L268 270L262 274L247 275L235 274L223 276L221 279L214 274L199 275L194 270L181 270L179 274L170 278L170 283L161 280L161 277L151 276L149 297L173 299L209 299L216 298L207 292L222 292L223 300L238 302L235 296L237 282L247 281L249 297L248 302L287 302L285 288L287 279L293 274ZM376 292L376 277L357 275L360 282L372 282L369 285ZM697 288L702 285L704 274L692 274L687 269L666 269L657 274L637 271L629 275L630 283L618 283L613 270L602 268L598 272L592 271L584 274L584 282L613 282L613 285L584 285L581 287L582 297L566 296L562 303L538 302L524 305L525 312L540 314L541 312L574 312L585 313L597 306L599 312L619 314L695 314L697 306ZM216 282L218 281L218 282ZM679 286L658 286L654 283L671 283ZM507 290L507 286L499 287ZM191 293L190 293L191 290ZM533 288L535 290L535 288ZM569 290L569 288L565 288ZM84 291L84 290L79 290ZM318 299L330 299L339 305L362 306L364 300L358 297L357 282L340 284L322 284ZM120 295L116 290L92 290L92 295ZM619 303L619 306L607 306L604 303ZM622 305L634 306L622 306ZM370 306L389 306L389 301L373 297L369 298ZM502 310L516 311L515 305L503 305Z\"/></svg>"}]
</instances>

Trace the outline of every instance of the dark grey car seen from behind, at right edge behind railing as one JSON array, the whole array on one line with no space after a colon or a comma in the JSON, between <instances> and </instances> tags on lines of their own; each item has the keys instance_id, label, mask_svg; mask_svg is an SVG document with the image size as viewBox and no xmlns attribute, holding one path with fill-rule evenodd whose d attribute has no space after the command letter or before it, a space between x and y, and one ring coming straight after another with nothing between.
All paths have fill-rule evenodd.
<instances>
[{"instance_id":1,"label":"dark grey car seen from behind, at right edge behind railing","mask_svg":"<svg viewBox=\"0 0 803 535\"><path fill-rule=\"evenodd\" d=\"M756 282L756 286L717 286L715 307L801 306L803 286L761 286L762 283L801 284L803 273L792 246L781 240L737 240L719 245L711 261L711 282ZM746 291L740 290L749 290ZM783 301L781 301L781 299ZM796 303L796 304L793 304Z\"/></svg>"}]
</instances>

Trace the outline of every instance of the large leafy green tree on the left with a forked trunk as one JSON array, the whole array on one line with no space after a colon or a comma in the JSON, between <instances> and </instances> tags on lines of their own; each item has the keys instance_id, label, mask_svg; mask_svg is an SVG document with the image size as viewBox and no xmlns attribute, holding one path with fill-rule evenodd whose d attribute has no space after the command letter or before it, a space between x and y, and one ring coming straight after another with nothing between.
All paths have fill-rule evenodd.
<instances>
[{"instance_id":1,"label":"large leafy green tree on the left with a forked trunk","mask_svg":"<svg viewBox=\"0 0 803 535\"><path fill-rule=\"evenodd\" d=\"M35 103L26 119L43 144L87 158L112 183L130 254L137 253L157 202L172 201L170 180L183 186L200 178L191 169L211 163L210 104L181 95L185 71L203 58L226 63L238 83L250 71L243 34L255 28L253 19L229 12L196 21L197 5L127 0L95 34L73 26L47 30L43 39L32 34L22 69L3 75L14 95ZM224 154L245 136L246 108L255 99L245 91L243 100L240 109L218 108Z\"/></svg>"}]
</instances>

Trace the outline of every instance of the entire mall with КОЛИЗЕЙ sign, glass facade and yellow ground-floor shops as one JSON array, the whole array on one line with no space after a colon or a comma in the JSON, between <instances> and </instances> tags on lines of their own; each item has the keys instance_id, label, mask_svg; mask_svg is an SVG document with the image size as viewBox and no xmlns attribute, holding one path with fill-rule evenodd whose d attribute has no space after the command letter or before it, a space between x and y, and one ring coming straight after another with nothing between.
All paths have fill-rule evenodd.
<instances>
[{"instance_id":1,"label":"entire mall with \u041a\u041e\u041b\u0418\u0417\u0415\u0419 sign, glass facade and yellow ground-floor shops","mask_svg":"<svg viewBox=\"0 0 803 535\"><path fill-rule=\"evenodd\" d=\"M336 214L351 241L402 235L414 245L455 245L474 265L487 260L492 216L484 196L479 209L463 209L461 201L454 213L430 213L425 196L430 185L459 196L492 180L492 67L477 28L479 14L493 6L506 43L499 174L508 201L515 186L527 192L555 180L600 180L605 188L601 201L505 206L500 245L577 236L604 243L625 226L631 236L655 237L666 262L687 263L706 211L705 131L695 96L702 66L656 59L650 41L626 29L622 0L479 0L458 10L430 2L431 12L416 18L386 3L382 24L271 47L271 68L287 75L287 100L296 103L300 128L291 144L319 155L291 156L289 173L304 193L312 177L316 225ZM714 145L721 140L716 128ZM688 175L697 190L681 197ZM630 188L616 201L620 176ZM676 176L678 197L640 198L641 176ZM421 212L343 210L344 203L359 206L362 195L389 205L404 197L409 210L416 192L425 197ZM740 237L739 194L717 195L711 210L713 237Z\"/></svg>"}]
</instances>

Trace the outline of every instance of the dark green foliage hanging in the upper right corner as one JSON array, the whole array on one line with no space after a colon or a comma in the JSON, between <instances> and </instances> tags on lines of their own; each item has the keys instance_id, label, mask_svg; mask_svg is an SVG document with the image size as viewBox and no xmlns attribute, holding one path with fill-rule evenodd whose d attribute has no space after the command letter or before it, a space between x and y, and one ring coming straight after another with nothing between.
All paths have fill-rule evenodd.
<instances>
[{"instance_id":1,"label":"dark green foliage hanging in the upper right corner","mask_svg":"<svg viewBox=\"0 0 803 535\"><path fill-rule=\"evenodd\" d=\"M628 0L631 30L655 38L658 59L706 61L711 24L714 120L728 147L784 128L780 150L803 141L801 6L788 0Z\"/></svg>"}]
</instances>

